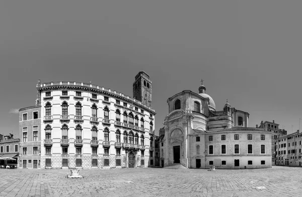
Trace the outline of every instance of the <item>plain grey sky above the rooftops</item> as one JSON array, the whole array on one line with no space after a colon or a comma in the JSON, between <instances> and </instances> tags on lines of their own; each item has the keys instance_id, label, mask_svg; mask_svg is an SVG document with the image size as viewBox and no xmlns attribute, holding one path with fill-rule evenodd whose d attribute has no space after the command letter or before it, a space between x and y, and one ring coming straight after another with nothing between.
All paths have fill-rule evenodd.
<instances>
[{"instance_id":1,"label":"plain grey sky above the rooftops","mask_svg":"<svg viewBox=\"0 0 302 197\"><path fill-rule=\"evenodd\" d=\"M167 99L198 93L222 110L291 133L302 118L302 1L114 0L0 2L0 133L18 137L18 109L36 84L79 81L132 96L135 75L153 82L156 133ZM301 121L302 122L302 121ZM302 123L301 123L302 124Z\"/></svg>"}]
</instances>

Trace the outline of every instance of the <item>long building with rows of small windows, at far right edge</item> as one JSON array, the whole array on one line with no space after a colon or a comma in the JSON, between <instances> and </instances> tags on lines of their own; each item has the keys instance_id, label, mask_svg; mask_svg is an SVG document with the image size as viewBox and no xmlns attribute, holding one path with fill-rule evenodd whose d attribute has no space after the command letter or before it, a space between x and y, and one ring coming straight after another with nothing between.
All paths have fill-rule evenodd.
<instances>
[{"instance_id":1,"label":"long building with rows of small windows, at far right edge","mask_svg":"<svg viewBox=\"0 0 302 197\"><path fill-rule=\"evenodd\" d=\"M302 134L299 130L274 139L275 165L302 166L301 141Z\"/></svg>"}]
</instances>

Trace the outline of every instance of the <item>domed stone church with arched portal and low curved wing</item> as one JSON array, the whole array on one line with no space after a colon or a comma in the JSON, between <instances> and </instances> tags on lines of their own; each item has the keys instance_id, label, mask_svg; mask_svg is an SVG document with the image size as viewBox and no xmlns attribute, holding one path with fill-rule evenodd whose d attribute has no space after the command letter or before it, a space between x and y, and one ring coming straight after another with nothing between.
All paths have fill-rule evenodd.
<instances>
[{"instance_id":1,"label":"domed stone church with arched portal and low curved wing","mask_svg":"<svg viewBox=\"0 0 302 197\"><path fill-rule=\"evenodd\" d=\"M271 133L249 127L250 114L231 107L228 101L216 111L202 83L198 90L184 90L167 101L169 113L160 147L162 167L271 167Z\"/></svg>"}]
</instances>

